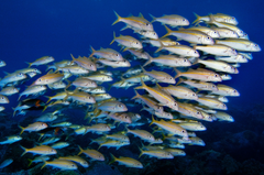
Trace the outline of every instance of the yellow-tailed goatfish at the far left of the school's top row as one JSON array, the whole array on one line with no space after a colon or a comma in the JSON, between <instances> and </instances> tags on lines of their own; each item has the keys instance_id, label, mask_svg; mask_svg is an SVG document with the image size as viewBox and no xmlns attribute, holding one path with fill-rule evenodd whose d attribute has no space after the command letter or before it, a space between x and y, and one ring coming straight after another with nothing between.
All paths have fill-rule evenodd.
<instances>
[{"instance_id":1,"label":"yellow-tailed goatfish at the far left of the school's top row","mask_svg":"<svg viewBox=\"0 0 264 175\"><path fill-rule=\"evenodd\" d=\"M130 15L128 18L120 17L116 11L114 14L117 15L118 19L112 23L112 25L114 25L118 22L124 22L127 26L123 28L122 30L131 28L132 30L153 31L152 23L144 19L144 17L141 13L140 17Z\"/></svg>"}]
</instances>

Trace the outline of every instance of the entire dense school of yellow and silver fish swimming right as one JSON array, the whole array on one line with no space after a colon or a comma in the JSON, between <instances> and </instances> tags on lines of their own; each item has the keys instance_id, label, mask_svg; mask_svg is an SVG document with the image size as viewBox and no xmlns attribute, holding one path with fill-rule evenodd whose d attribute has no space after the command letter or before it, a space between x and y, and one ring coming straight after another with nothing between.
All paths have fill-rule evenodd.
<instances>
[{"instance_id":1,"label":"entire dense school of yellow and silver fish swimming right","mask_svg":"<svg viewBox=\"0 0 264 175\"><path fill-rule=\"evenodd\" d=\"M4 103L16 102L8 98L15 94L19 94L19 105L13 108L13 117L26 114L33 106L43 107L34 121L18 124L20 133L0 141L1 145L20 145L21 156L36 155L29 161L29 166L42 164L41 168L77 169L78 166L89 167L91 161L111 160L107 163L143 168L141 156L174 158L186 155L186 145L205 146L202 139L196 135L207 130L202 123L234 121L226 112L227 102L229 97L240 94L224 81L253 58L252 52L261 51L238 26L234 17L195 14L197 20L190 24L178 14L152 15L150 22L141 13L128 18L114 13L113 24L124 23L121 32L132 32L131 35L113 32L110 45L120 45L127 54L109 45L98 50L90 46L89 56L70 54L69 59L59 62L53 56L43 56L29 63L28 68L1 78L1 112ZM154 30L153 24L158 23L167 31L164 36ZM47 66L47 73L35 68L43 65ZM0 67L3 66L4 61L0 61ZM111 88L134 89L134 95L131 99L116 98L108 94ZM51 91L55 95L51 96ZM40 96L47 97L46 101L38 100ZM79 118L87 123L72 123L64 118L65 110L75 108L84 111ZM135 113L130 108L141 108L141 111ZM58 132L62 132L59 136ZM26 140L25 133L40 135L35 146L18 143ZM81 147L68 141L75 136L90 140L90 144ZM122 152L118 157L111 153L112 149L131 144L139 147L138 157L121 155ZM69 146L79 147L79 152L57 156ZM101 149L108 149L108 154L102 154ZM2 162L0 168L13 161Z\"/></svg>"}]
</instances>

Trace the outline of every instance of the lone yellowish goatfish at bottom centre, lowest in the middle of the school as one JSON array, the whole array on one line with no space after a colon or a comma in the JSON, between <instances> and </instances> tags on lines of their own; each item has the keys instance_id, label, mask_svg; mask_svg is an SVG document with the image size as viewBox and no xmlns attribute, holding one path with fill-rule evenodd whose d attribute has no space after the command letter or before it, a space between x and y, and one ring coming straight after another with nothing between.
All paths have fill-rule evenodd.
<instances>
[{"instance_id":1,"label":"lone yellowish goatfish at bottom centre, lowest in the middle of the school","mask_svg":"<svg viewBox=\"0 0 264 175\"><path fill-rule=\"evenodd\" d=\"M112 161L109 164L112 164L114 162L118 162L120 165L124 165L127 167L135 167L135 168L143 168L143 165L138 160L131 158L131 157L124 157L120 156L119 158L110 154L112 157Z\"/></svg>"}]
</instances>

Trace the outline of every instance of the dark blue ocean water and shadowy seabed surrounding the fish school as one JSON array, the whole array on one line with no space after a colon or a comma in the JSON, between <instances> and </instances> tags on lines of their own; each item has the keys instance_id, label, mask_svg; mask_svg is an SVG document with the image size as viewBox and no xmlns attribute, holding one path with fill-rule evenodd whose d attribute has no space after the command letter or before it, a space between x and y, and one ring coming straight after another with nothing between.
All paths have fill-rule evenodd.
<instances>
[{"instance_id":1,"label":"dark blue ocean water and shadowy seabed surrounding the fish school","mask_svg":"<svg viewBox=\"0 0 264 175\"><path fill-rule=\"evenodd\" d=\"M154 17L179 14L190 22L196 19L194 12L199 15L227 13L237 18L239 26L249 34L251 41L264 47L263 3L257 0L11 0L4 1L0 6L0 59L7 63L7 66L0 68L0 77L4 76L3 72L13 73L16 69L28 67L25 62L34 62L44 55L51 55L58 62L72 59L70 54L75 57L78 55L88 56L90 46L96 50L111 47L120 51L116 43L109 45L113 39L113 31L118 35L136 35L132 30L120 32L120 29L124 26L123 23L111 25L116 20L113 11L117 11L121 17L139 15L141 12L148 21L152 20L148 14ZM153 25L160 36L166 33L164 26L158 22L153 23ZM172 174L261 174L264 171L264 160L261 156L264 155L261 149L264 145L263 57L263 52L253 53L253 59L242 64L239 67L240 73L233 75L232 80L226 83L240 92L240 97L230 97L228 102L228 112L232 114L235 122L206 123L207 131L199 135L207 143L206 146L189 146L186 150L188 156L175 157L174 161L155 160L144 171L138 171L135 174L163 174L165 172ZM37 68L44 72L46 67L40 66ZM129 98L134 95L133 88L128 90L111 89L110 94L113 97ZM9 97L10 103L4 105L4 112L12 112L12 107L18 105L18 95ZM23 118L20 116L10 120L12 122L23 121ZM12 132L13 128L6 128L6 130ZM12 134L14 133L12 132ZM80 141L78 143L81 144ZM19 147L19 144L15 146ZM0 145L0 150L1 147L7 150L7 145ZM8 150L9 155L12 155L10 152L13 150ZM18 150L22 153L22 150ZM123 152L125 153L125 151ZM122 150L120 155L122 155ZM25 161L26 158L19 160ZM141 161L146 163L148 160L152 158L144 157ZM207 165L200 164L198 160L204 161ZM207 160L209 161L207 162ZM0 161L2 162L4 158ZM16 161L11 165L20 166L18 163ZM182 166L179 167L179 165ZM191 168L193 172L188 171L190 166L196 168ZM98 174L106 174L106 172L112 174L111 171L125 174L125 168L117 164L110 169L105 165L100 168L98 164L95 167L97 168L81 171L81 174L89 174L89 171ZM251 171L243 172L242 169L241 172L241 167L248 167ZM15 169L21 171L19 167ZM128 168L128 171L130 169ZM3 174L13 172L8 167L0 171ZM43 172L45 171L47 169L43 169ZM127 172L127 174L129 173Z\"/></svg>"}]
</instances>

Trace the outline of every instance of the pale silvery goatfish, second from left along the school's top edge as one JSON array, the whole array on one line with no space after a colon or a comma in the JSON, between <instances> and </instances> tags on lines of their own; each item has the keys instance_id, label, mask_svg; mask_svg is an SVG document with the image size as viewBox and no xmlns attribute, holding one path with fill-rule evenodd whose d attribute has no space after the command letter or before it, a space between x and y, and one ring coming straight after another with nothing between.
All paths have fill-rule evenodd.
<instances>
[{"instance_id":1,"label":"pale silvery goatfish, second from left along the school's top edge","mask_svg":"<svg viewBox=\"0 0 264 175\"><path fill-rule=\"evenodd\" d=\"M186 18L178 14L163 15L160 18L155 18L153 15L151 17L153 19L152 23L157 21L157 22L161 22L163 25L167 24L167 25L170 25L172 28L189 25L189 21Z\"/></svg>"}]
</instances>

